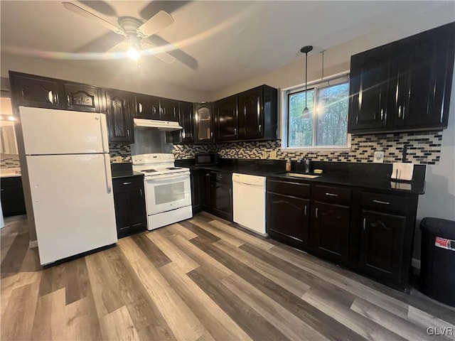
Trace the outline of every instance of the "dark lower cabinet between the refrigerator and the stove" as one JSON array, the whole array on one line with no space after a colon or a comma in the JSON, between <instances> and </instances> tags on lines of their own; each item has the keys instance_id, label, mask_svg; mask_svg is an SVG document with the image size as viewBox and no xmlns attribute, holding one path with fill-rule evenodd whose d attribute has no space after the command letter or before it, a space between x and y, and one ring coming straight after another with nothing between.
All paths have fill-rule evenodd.
<instances>
[{"instance_id":1,"label":"dark lower cabinet between the refrigerator and the stove","mask_svg":"<svg viewBox=\"0 0 455 341\"><path fill-rule=\"evenodd\" d=\"M144 231L147 227L144 178L115 178L113 188L117 237Z\"/></svg>"}]
</instances>

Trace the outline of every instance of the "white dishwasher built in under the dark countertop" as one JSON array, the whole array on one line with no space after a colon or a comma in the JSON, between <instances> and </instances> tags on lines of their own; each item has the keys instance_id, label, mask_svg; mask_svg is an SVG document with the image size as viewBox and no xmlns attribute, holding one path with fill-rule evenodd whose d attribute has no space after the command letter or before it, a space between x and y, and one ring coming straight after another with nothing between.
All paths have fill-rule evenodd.
<instances>
[{"instance_id":1,"label":"white dishwasher built in under the dark countertop","mask_svg":"<svg viewBox=\"0 0 455 341\"><path fill-rule=\"evenodd\" d=\"M265 232L264 176L232 173L234 222L262 235Z\"/></svg>"}]
</instances>

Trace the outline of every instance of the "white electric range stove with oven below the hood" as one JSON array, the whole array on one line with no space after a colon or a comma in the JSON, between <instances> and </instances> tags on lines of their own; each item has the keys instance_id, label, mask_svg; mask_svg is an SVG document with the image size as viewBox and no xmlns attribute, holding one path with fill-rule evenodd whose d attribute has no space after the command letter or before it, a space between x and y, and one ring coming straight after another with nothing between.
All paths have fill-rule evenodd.
<instances>
[{"instance_id":1,"label":"white electric range stove with oven below the hood","mask_svg":"<svg viewBox=\"0 0 455 341\"><path fill-rule=\"evenodd\" d=\"M147 229L157 229L193 217L189 168L174 166L170 153L132 157L133 171L144 173Z\"/></svg>"}]
</instances>

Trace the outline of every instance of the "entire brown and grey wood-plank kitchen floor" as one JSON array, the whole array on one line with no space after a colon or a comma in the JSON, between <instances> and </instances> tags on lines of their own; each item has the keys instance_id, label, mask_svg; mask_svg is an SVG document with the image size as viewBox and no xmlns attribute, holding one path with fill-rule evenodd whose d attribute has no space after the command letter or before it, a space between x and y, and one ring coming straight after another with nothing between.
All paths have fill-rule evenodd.
<instances>
[{"instance_id":1,"label":"entire brown and grey wood-plank kitchen floor","mask_svg":"<svg viewBox=\"0 0 455 341\"><path fill-rule=\"evenodd\" d=\"M1 340L455 340L455 310L212 215L41 269L1 230Z\"/></svg>"}]
</instances>

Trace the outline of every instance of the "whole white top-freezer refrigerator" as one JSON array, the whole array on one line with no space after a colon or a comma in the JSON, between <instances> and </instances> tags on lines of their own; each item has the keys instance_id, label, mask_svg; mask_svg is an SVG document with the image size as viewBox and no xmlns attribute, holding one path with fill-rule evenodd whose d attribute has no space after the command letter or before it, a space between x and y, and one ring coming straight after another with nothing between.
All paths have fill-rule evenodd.
<instances>
[{"instance_id":1,"label":"whole white top-freezer refrigerator","mask_svg":"<svg viewBox=\"0 0 455 341\"><path fill-rule=\"evenodd\" d=\"M41 264L117 242L105 114L19 112Z\"/></svg>"}]
</instances>

